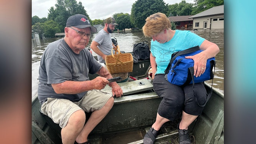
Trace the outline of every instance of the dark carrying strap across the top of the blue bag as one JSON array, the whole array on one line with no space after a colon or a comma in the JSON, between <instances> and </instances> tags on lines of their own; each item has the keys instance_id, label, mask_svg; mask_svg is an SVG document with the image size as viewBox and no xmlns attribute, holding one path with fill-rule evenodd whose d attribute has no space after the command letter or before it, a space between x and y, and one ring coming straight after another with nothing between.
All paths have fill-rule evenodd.
<instances>
[{"instance_id":1,"label":"dark carrying strap across the top of the blue bag","mask_svg":"<svg viewBox=\"0 0 256 144\"><path fill-rule=\"evenodd\" d=\"M172 62L174 61L174 59L176 59L176 57L181 56L182 54L188 54L188 53L195 52L195 51L198 51L198 50L200 50L199 46L194 46L194 47L190 47L189 49L185 49L183 51L174 52L172 54L172 58L171 58L171 60L168 64L168 66L166 67L166 70L164 71L164 73L165 74L169 73L169 70L172 67Z\"/></svg>"}]
</instances>

